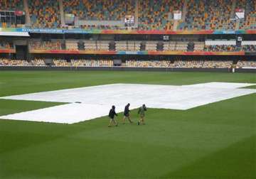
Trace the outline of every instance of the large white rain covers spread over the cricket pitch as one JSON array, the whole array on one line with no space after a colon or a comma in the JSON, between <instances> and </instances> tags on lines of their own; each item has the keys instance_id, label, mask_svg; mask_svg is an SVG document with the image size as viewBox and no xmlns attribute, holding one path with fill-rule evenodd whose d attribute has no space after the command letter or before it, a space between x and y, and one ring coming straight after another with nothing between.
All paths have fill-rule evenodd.
<instances>
[{"instance_id":1,"label":"large white rain covers spread over the cricket pitch","mask_svg":"<svg viewBox=\"0 0 256 179\"><path fill-rule=\"evenodd\" d=\"M21 94L1 97L0 99L65 102L69 104L9 114L0 116L0 119L73 124L107 116L110 104L117 107L117 112L122 112L128 102L131 103L130 109L136 109L145 103L147 107L154 109L186 110L233 97L253 94L256 89L240 89L240 87L252 85L255 84L225 82L183 86L113 84Z\"/></svg>"}]
</instances>

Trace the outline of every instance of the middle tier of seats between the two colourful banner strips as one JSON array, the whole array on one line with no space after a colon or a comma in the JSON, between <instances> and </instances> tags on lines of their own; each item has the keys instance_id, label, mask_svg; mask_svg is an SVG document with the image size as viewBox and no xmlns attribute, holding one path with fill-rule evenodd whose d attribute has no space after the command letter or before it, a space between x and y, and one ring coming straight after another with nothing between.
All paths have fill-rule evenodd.
<instances>
[{"instance_id":1,"label":"middle tier of seats between the two colourful banner strips","mask_svg":"<svg viewBox=\"0 0 256 179\"><path fill-rule=\"evenodd\" d=\"M162 49L157 48L158 43L163 45ZM29 47L32 50L116 50L116 51L183 51L188 49L189 42L183 41L110 41L110 40L66 40L65 47L61 45L60 40L41 41L31 40ZM191 51L207 52L235 52L245 50L246 52L256 52L256 45L242 45L238 48L236 45L205 45L204 42L193 42L194 48ZM144 48L142 46L144 45ZM0 43L1 48L1 43Z\"/></svg>"}]
</instances>

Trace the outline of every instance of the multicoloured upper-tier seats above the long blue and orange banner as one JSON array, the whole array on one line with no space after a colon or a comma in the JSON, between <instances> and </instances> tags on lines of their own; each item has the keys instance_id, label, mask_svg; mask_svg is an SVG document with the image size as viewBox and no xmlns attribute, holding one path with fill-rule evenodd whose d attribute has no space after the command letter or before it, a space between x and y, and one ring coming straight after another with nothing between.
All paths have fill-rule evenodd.
<instances>
[{"instance_id":1,"label":"multicoloured upper-tier seats above the long blue and orange banner","mask_svg":"<svg viewBox=\"0 0 256 179\"><path fill-rule=\"evenodd\" d=\"M174 11L183 11L185 0L144 0L138 3L139 30L174 30ZM135 0L63 0L64 13L95 21L123 21L125 15L135 15ZM59 1L28 0L31 25L36 28L60 28ZM235 21L233 1L188 0L184 21L178 21L177 30L235 30L256 29L256 1L236 1L235 9L245 9L245 18ZM0 0L2 11L24 11L22 0ZM9 24L0 23L0 27ZM13 25L11 25L13 26ZM86 29L120 29L124 27L84 25Z\"/></svg>"}]
</instances>

